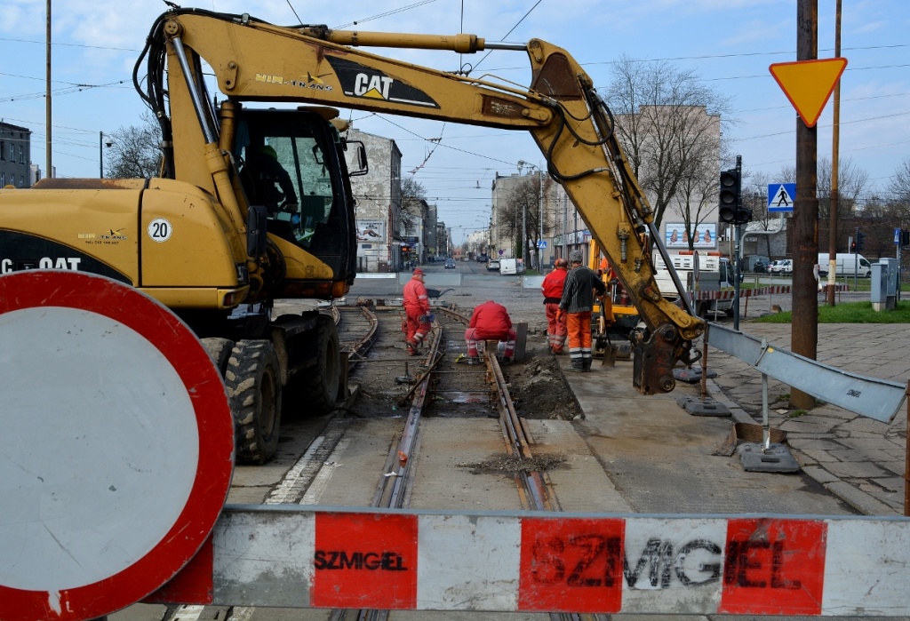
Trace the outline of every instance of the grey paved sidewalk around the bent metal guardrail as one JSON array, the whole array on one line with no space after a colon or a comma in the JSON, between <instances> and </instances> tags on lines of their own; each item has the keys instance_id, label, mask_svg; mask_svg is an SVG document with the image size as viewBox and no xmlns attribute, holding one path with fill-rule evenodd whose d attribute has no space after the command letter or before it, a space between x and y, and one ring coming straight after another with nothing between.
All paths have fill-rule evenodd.
<instances>
[{"instance_id":1,"label":"grey paved sidewalk around the bent metal guardrail","mask_svg":"<svg viewBox=\"0 0 910 621\"><path fill-rule=\"evenodd\" d=\"M740 329L790 349L790 324L744 322ZM905 383L910 378L910 326L902 324L821 324L817 360L844 371ZM718 349L708 349L714 399L741 422L761 423L762 376ZM786 432L786 446L803 471L844 502L871 516L902 515L906 469L907 416L902 408L886 424L840 407L819 404L803 412L789 404L790 387L768 378L768 421Z\"/></svg>"}]
</instances>

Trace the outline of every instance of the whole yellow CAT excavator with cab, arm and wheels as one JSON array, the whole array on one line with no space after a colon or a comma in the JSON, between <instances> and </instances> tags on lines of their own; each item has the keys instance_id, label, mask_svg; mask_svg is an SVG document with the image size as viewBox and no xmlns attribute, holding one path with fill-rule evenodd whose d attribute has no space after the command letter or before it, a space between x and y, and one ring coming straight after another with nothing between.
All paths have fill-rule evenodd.
<instances>
[{"instance_id":1,"label":"whole yellow CAT excavator with cab, arm and wheels","mask_svg":"<svg viewBox=\"0 0 910 621\"><path fill-rule=\"evenodd\" d=\"M453 75L364 46L523 51L531 85ZM217 78L218 102L204 65ZM654 214L612 115L559 47L278 26L177 8L152 26L134 82L161 125L160 175L0 190L0 269L106 275L175 311L224 374L241 460L274 454L282 398L328 409L339 393L330 317L318 308L272 316L278 298L334 299L355 276L349 175L364 173L366 160L362 145L349 149L341 137L337 107L530 132L647 326L632 335L634 385L670 391L675 363L697 357L691 342L703 321L655 285L641 243L642 234L659 238ZM268 107L276 103L300 106Z\"/></svg>"}]
</instances>

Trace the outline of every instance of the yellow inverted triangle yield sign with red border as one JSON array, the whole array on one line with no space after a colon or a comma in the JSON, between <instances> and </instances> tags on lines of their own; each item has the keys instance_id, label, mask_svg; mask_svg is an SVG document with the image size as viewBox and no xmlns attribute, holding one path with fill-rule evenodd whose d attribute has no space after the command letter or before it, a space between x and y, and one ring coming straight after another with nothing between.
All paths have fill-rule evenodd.
<instances>
[{"instance_id":1,"label":"yellow inverted triangle yield sign with red border","mask_svg":"<svg viewBox=\"0 0 910 621\"><path fill-rule=\"evenodd\" d=\"M768 69L803 123L814 127L846 65L846 58L824 58L775 63Z\"/></svg>"}]
</instances>

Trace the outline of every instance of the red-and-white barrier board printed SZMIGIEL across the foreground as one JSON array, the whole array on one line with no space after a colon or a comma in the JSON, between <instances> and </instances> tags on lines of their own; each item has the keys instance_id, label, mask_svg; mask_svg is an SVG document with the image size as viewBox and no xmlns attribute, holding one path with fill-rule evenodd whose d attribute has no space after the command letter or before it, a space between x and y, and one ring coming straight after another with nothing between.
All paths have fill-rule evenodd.
<instances>
[{"instance_id":1,"label":"red-and-white barrier board printed SZMIGIEL across the foreground","mask_svg":"<svg viewBox=\"0 0 910 621\"><path fill-rule=\"evenodd\" d=\"M906 616L910 521L228 507L208 602L490 612ZM178 575L173 592L202 592ZM193 588L180 588L183 580Z\"/></svg>"}]
</instances>

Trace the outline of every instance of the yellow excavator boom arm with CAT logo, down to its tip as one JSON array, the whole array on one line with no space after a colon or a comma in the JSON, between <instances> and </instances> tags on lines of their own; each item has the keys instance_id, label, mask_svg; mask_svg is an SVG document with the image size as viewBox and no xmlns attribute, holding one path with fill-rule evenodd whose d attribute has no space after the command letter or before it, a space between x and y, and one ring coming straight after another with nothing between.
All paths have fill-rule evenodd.
<instances>
[{"instance_id":1,"label":"yellow excavator boom arm with CAT logo, down to its tip","mask_svg":"<svg viewBox=\"0 0 910 621\"><path fill-rule=\"evenodd\" d=\"M648 238L662 253L651 206L616 140L613 118L590 77L565 50L539 39L490 45L474 35L394 35L271 25L248 15L177 10L163 16L171 45L211 66L237 101L287 101L525 130L545 156L639 309L647 333L635 344L636 387L672 390L677 360L698 356L704 323L667 301L653 277ZM523 49L531 85L477 79L374 55L365 45L470 53ZM665 257L666 264L670 261Z\"/></svg>"}]
</instances>

